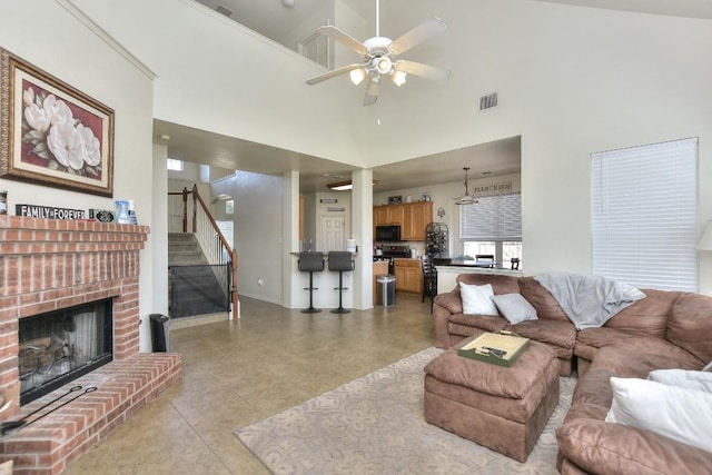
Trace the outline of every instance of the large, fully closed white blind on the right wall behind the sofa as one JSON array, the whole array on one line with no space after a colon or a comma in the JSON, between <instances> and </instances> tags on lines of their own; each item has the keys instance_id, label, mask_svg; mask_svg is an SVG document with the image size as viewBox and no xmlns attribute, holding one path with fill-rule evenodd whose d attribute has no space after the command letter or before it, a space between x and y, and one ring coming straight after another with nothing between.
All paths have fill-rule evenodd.
<instances>
[{"instance_id":1,"label":"large, fully closed white blind on the right wall behind the sofa","mask_svg":"<svg viewBox=\"0 0 712 475\"><path fill-rule=\"evenodd\" d=\"M593 274L698 291L698 139L592 155Z\"/></svg>"}]
</instances>

